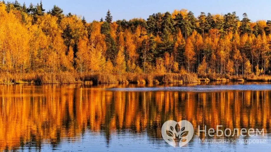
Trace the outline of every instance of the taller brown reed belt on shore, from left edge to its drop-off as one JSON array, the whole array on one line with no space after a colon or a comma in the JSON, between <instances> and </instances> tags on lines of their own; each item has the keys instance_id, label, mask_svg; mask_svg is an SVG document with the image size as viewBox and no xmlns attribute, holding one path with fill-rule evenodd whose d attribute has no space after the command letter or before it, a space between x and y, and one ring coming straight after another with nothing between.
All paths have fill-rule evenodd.
<instances>
[{"instance_id":1,"label":"taller brown reed belt on shore, from left edge to its drop-off","mask_svg":"<svg viewBox=\"0 0 271 152\"><path fill-rule=\"evenodd\" d=\"M166 73L158 74L137 74L125 73L122 75L104 73L1 73L0 84L60 84L60 83L134 83L134 84L161 84L161 83L198 83L196 74Z\"/></svg>"}]
</instances>

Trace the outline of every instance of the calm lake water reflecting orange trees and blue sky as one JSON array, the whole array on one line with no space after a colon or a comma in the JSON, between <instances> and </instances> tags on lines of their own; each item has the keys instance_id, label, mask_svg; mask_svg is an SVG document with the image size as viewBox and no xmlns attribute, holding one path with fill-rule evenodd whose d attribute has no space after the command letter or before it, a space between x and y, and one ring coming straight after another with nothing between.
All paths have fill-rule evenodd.
<instances>
[{"instance_id":1,"label":"calm lake water reflecting orange trees and blue sky","mask_svg":"<svg viewBox=\"0 0 271 152\"><path fill-rule=\"evenodd\" d=\"M0 151L269 151L271 85L0 85ZM168 120L194 137L171 147ZM198 136L197 126L264 129L265 136ZM199 139L265 143L200 143Z\"/></svg>"}]
</instances>

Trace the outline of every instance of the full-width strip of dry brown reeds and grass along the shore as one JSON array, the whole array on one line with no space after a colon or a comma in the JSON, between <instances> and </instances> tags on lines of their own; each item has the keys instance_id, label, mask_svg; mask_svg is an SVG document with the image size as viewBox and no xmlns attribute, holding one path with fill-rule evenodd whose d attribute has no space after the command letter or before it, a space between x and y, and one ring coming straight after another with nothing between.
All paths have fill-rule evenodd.
<instances>
[{"instance_id":1,"label":"full-width strip of dry brown reeds and grass along the shore","mask_svg":"<svg viewBox=\"0 0 271 152\"><path fill-rule=\"evenodd\" d=\"M101 83L119 83L119 84L187 84L199 82L271 82L270 75L197 75L195 73L166 73L166 74L144 74L144 73L124 73L121 75L105 73L77 73L77 72L59 72L59 73L1 73L0 84L101 84Z\"/></svg>"}]
</instances>

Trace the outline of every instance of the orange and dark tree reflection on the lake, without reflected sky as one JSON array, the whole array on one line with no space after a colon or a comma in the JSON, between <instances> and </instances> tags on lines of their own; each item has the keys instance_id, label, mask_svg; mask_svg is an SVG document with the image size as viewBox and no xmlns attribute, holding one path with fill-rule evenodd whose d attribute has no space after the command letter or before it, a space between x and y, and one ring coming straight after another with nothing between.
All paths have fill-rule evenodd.
<instances>
[{"instance_id":1,"label":"orange and dark tree reflection on the lake, without reflected sky","mask_svg":"<svg viewBox=\"0 0 271 152\"><path fill-rule=\"evenodd\" d=\"M190 121L195 129L194 139L217 138L196 136L197 126L204 125L207 130L217 125L232 130L263 128L270 134L270 90L108 90L115 87L145 85L0 85L0 151L82 142L86 132L103 135L107 146L112 134L126 133L146 134L148 141L166 145L161 127L167 120Z\"/></svg>"}]
</instances>

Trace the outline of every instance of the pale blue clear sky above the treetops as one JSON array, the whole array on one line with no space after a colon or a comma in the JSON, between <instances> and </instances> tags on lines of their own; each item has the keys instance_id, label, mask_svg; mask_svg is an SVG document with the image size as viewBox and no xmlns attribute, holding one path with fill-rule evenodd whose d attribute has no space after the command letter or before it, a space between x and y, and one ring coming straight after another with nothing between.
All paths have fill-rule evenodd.
<instances>
[{"instance_id":1,"label":"pale blue clear sky above the treetops","mask_svg":"<svg viewBox=\"0 0 271 152\"><path fill-rule=\"evenodd\" d=\"M15 1L15 0L10 0ZM29 6L40 0L18 0ZM64 13L71 12L85 16L88 22L105 18L110 9L113 21L118 19L145 18L153 13L172 12L175 9L187 9L197 17L200 12L206 14L225 14L236 11L240 19L247 13L252 21L271 20L271 0L43 0L44 9L48 11L54 5L63 9Z\"/></svg>"}]
</instances>

